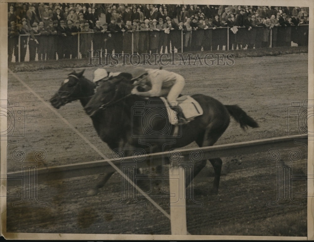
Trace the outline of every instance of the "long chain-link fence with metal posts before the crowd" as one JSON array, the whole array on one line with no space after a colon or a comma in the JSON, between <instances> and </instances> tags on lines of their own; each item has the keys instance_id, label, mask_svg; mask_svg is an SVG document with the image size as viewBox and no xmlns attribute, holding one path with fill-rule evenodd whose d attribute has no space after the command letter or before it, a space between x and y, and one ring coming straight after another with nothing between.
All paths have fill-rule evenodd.
<instances>
[{"instance_id":1,"label":"long chain-link fence with metal posts before the crowd","mask_svg":"<svg viewBox=\"0 0 314 242\"><path fill-rule=\"evenodd\" d=\"M200 30L82 32L8 36L8 62L81 59L111 54L214 51L307 46L309 25ZM91 51L92 50L92 51Z\"/></svg>"}]
</instances>

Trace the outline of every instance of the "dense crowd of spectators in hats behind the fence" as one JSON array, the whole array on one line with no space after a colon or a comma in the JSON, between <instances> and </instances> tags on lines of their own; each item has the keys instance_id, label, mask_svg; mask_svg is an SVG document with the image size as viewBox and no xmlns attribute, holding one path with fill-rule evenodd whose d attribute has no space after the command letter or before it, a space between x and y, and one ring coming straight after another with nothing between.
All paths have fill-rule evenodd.
<instances>
[{"instance_id":1,"label":"dense crowd of spectators in hats behind the fence","mask_svg":"<svg viewBox=\"0 0 314 242\"><path fill-rule=\"evenodd\" d=\"M227 45L226 31L194 31L221 27L230 28L230 50L269 46L269 30L277 26L283 28L278 31L274 28L278 36L273 46L289 46L291 41L307 45L306 37L300 40L300 33L287 27L308 24L308 11L304 7L272 6L9 3L8 61L13 52L17 58L16 37L25 34L30 37L21 36L20 61L24 61L27 46L30 60L35 60L36 53L39 60L56 59L56 53L58 59L77 58L78 32L93 32L80 35L82 57L86 57L91 42L94 50L130 53L132 33L133 52L139 54L169 51L170 44L178 51L181 47L183 51L217 50ZM245 34L240 28L236 30L238 34L234 34L235 30L231 30L234 26L246 29ZM259 26L263 26L263 30L257 31Z\"/></svg>"}]
</instances>

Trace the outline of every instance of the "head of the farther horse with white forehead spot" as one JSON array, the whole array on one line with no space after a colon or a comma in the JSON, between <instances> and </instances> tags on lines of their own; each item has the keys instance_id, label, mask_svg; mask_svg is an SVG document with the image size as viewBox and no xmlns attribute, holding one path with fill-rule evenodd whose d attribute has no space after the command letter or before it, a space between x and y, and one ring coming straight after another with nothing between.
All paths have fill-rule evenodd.
<instances>
[{"instance_id":1,"label":"head of the farther horse with white forehead spot","mask_svg":"<svg viewBox=\"0 0 314 242\"><path fill-rule=\"evenodd\" d=\"M60 108L78 99L82 102L84 98L89 98L94 94L95 84L84 78L84 71L85 69L79 73L74 71L68 74L68 78L62 82L57 93L50 99L53 107Z\"/></svg>"}]
</instances>

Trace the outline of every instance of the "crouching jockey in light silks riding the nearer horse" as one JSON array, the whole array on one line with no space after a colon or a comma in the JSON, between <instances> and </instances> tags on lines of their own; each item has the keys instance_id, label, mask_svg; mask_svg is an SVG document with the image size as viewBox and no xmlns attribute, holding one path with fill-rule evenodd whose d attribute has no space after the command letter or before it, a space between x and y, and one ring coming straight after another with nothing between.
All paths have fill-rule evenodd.
<instances>
[{"instance_id":1,"label":"crouching jockey in light silks riding the nearer horse","mask_svg":"<svg viewBox=\"0 0 314 242\"><path fill-rule=\"evenodd\" d=\"M145 69L137 67L132 73L132 79L135 86L151 87L150 90L139 92L135 87L131 94L136 94L143 97L166 97L171 107L177 106L177 97L183 90L185 81L184 78L174 72L169 72L160 69Z\"/></svg>"}]
</instances>

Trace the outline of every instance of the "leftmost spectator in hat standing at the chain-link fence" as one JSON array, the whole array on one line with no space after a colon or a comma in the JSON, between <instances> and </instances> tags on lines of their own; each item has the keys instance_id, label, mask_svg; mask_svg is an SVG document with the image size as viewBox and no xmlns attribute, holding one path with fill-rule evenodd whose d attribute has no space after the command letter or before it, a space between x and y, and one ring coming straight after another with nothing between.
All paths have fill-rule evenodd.
<instances>
[{"instance_id":1,"label":"leftmost spectator in hat standing at the chain-link fence","mask_svg":"<svg viewBox=\"0 0 314 242\"><path fill-rule=\"evenodd\" d=\"M19 31L16 27L16 23L11 21L10 27L8 27L8 62L12 61L12 54L14 53L15 62L18 62L19 58Z\"/></svg>"}]
</instances>

